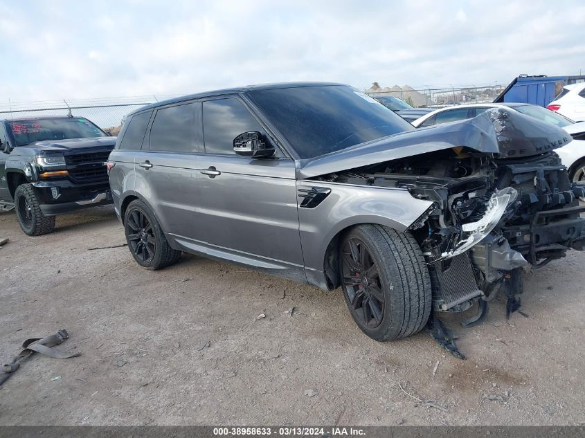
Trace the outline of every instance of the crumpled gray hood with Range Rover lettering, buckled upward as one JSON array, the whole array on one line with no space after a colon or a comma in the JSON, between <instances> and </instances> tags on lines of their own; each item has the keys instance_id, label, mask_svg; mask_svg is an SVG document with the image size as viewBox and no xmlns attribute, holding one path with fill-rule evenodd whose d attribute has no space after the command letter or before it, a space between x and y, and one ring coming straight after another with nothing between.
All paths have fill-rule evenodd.
<instances>
[{"instance_id":1,"label":"crumpled gray hood with Range Rover lettering, buckled upward","mask_svg":"<svg viewBox=\"0 0 585 438\"><path fill-rule=\"evenodd\" d=\"M570 135L559 127L518 111L492 108L468 120L406 131L300 160L297 176L312 178L460 146L497 154L499 158L519 158L543 154L570 140Z\"/></svg>"}]
</instances>

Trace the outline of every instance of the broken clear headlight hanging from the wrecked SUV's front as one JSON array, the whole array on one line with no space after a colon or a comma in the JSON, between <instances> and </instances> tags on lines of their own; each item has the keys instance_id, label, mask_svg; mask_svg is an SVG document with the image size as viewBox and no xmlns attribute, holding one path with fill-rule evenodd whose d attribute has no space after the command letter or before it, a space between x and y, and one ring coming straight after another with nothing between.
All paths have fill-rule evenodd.
<instances>
[{"instance_id":1,"label":"broken clear headlight hanging from the wrecked SUV's front","mask_svg":"<svg viewBox=\"0 0 585 438\"><path fill-rule=\"evenodd\" d=\"M496 190L487 202L485 215L476 222L463 223L462 238L452 250L441 254L441 259L448 259L465 253L469 248L478 244L498 225L507 206L514 202L518 192L511 187Z\"/></svg>"}]
</instances>

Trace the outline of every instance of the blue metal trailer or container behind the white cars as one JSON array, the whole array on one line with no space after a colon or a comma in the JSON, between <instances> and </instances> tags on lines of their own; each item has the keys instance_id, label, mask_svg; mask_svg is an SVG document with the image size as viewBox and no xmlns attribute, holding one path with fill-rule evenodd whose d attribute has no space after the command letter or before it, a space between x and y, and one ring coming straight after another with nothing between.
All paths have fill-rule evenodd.
<instances>
[{"instance_id":1,"label":"blue metal trailer or container behind the white cars","mask_svg":"<svg viewBox=\"0 0 585 438\"><path fill-rule=\"evenodd\" d=\"M516 77L494 100L499 102L532 103L546 107L555 100L564 85L584 82L585 76L528 76Z\"/></svg>"}]
</instances>

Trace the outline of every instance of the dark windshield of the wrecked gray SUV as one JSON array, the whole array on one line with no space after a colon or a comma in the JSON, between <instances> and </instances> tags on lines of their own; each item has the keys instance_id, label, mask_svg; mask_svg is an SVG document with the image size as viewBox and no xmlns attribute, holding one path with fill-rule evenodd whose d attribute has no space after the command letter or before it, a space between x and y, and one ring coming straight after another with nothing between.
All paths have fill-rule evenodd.
<instances>
[{"instance_id":1,"label":"dark windshield of the wrecked gray SUV","mask_svg":"<svg viewBox=\"0 0 585 438\"><path fill-rule=\"evenodd\" d=\"M250 91L248 95L300 158L314 158L415 129L351 86L300 86Z\"/></svg>"}]
</instances>

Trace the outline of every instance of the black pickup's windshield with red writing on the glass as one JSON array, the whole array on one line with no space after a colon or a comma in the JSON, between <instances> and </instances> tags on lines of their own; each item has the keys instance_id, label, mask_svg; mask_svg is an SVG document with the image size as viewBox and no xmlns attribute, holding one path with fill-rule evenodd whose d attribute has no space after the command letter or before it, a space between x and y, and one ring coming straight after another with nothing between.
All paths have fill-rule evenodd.
<instances>
[{"instance_id":1,"label":"black pickup's windshield with red writing on the glass","mask_svg":"<svg viewBox=\"0 0 585 438\"><path fill-rule=\"evenodd\" d=\"M37 118L8 122L17 146L44 140L107 137L107 134L85 118Z\"/></svg>"}]
</instances>

